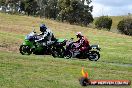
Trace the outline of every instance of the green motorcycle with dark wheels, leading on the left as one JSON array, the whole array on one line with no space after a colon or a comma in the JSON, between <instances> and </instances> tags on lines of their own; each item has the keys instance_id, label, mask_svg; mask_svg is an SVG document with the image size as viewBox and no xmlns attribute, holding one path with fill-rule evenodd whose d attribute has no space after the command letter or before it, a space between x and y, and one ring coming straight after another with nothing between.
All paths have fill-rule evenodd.
<instances>
[{"instance_id":1,"label":"green motorcycle with dark wheels, leading on the left","mask_svg":"<svg viewBox=\"0 0 132 88\"><path fill-rule=\"evenodd\" d=\"M24 42L22 43L22 45L20 45L20 53L22 55L30 55L33 53L35 55L52 55L55 57L60 57L61 54L64 52L64 47L62 46L62 44L64 43L65 39L55 39L52 45L43 46L41 43L35 42L35 40L38 40L40 38L41 36L37 35L34 30L26 35ZM60 52L59 50L63 51Z\"/></svg>"}]
</instances>

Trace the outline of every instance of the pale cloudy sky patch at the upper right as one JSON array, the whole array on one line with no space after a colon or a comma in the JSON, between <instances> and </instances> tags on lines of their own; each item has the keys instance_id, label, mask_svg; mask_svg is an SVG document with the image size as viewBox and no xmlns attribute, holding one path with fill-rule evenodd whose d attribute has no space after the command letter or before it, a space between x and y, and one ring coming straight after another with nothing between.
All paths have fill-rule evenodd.
<instances>
[{"instance_id":1,"label":"pale cloudy sky patch at the upper right","mask_svg":"<svg viewBox=\"0 0 132 88\"><path fill-rule=\"evenodd\" d=\"M92 0L93 16L117 16L132 13L132 0Z\"/></svg>"}]
</instances>

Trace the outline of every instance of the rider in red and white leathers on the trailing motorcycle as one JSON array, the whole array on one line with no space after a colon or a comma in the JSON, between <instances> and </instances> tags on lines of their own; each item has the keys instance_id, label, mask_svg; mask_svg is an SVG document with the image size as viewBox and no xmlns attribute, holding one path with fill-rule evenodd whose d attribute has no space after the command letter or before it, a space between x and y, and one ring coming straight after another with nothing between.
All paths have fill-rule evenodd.
<instances>
[{"instance_id":1,"label":"rider in red and white leathers on the trailing motorcycle","mask_svg":"<svg viewBox=\"0 0 132 88\"><path fill-rule=\"evenodd\" d=\"M79 40L75 43L78 44L77 48L80 50L80 52L85 52L86 50L88 50L90 47L88 39L83 36L81 32L77 32L76 36L77 38L79 38Z\"/></svg>"}]
</instances>

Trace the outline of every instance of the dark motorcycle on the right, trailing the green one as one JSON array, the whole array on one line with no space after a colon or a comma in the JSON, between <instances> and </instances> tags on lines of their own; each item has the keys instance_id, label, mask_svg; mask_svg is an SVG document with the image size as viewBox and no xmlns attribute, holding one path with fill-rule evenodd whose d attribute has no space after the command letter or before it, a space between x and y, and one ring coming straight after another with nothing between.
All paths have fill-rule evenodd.
<instances>
[{"instance_id":1,"label":"dark motorcycle on the right, trailing the green one","mask_svg":"<svg viewBox=\"0 0 132 88\"><path fill-rule=\"evenodd\" d=\"M79 59L89 59L90 61L97 61L100 58L100 47L99 45L90 45L88 49L81 53L78 49L79 44L74 43L73 38L71 38L66 43L66 50L64 54L64 58L79 58Z\"/></svg>"}]
</instances>

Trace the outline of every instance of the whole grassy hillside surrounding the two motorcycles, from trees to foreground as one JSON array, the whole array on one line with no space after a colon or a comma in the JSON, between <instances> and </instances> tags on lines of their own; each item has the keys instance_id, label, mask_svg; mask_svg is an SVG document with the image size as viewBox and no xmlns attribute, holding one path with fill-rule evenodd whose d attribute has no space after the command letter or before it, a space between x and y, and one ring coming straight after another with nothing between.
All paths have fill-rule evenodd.
<instances>
[{"instance_id":1,"label":"whole grassy hillside surrounding the two motorcycles, from trees to foreground","mask_svg":"<svg viewBox=\"0 0 132 88\"><path fill-rule=\"evenodd\" d=\"M0 22L0 88L81 88L78 79L82 66L89 72L91 79L132 80L132 37L48 19L3 13L0 13ZM75 38L75 33L81 31L88 37L90 44L100 45L100 60L91 62L19 54L24 35L31 32L32 26L39 32L42 22L52 29L57 38ZM121 86L97 86L114 87ZM132 86L121 88L124 87Z\"/></svg>"}]
</instances>

